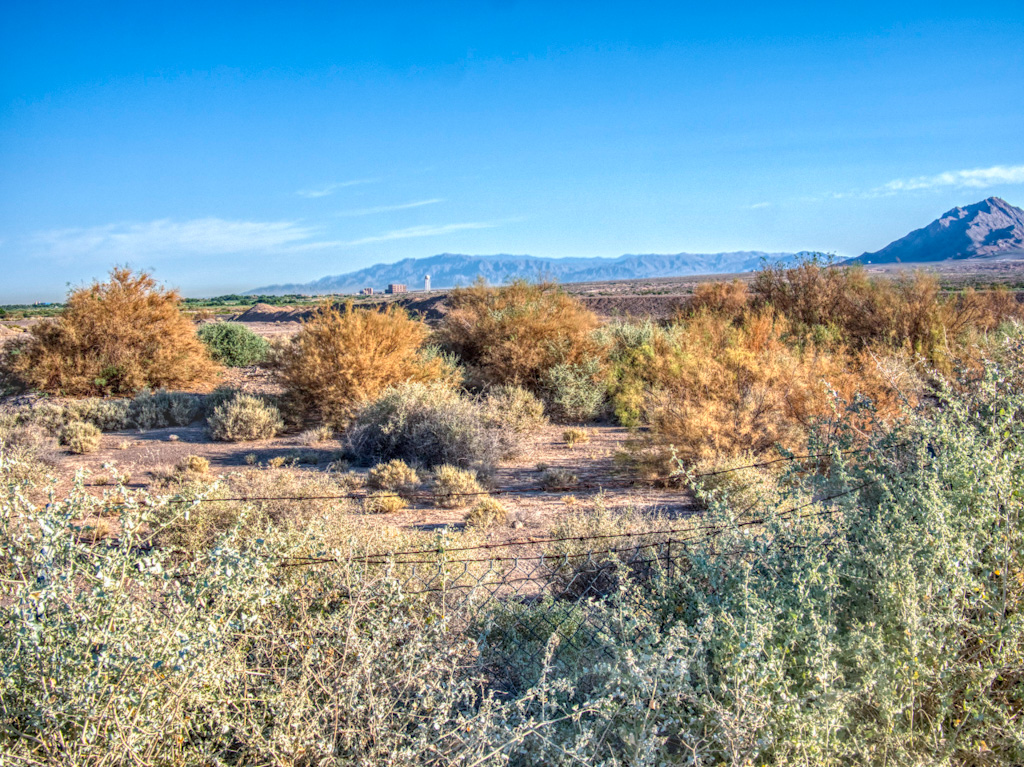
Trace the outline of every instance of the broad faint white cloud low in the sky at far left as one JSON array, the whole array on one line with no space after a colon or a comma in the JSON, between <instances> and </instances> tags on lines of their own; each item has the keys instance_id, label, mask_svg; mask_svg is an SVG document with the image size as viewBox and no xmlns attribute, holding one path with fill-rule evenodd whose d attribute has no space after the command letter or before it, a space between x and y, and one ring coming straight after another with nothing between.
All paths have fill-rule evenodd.
<instances>
[{"instance_id":1,"label":"broad faint white cloud low in the sky at far left","mask_svg":"<svg viewBox=\"0 0 1024 767\"><path fill-rule=\"evenodd\" d=\"M106 261L164 255L224 255L274 252L310 243L319 231L296 221L229 221L165 218L140 223L111 223L37 232L28 238L30 253L55 259L98 257Z\"/></svg>"}]
</instances>

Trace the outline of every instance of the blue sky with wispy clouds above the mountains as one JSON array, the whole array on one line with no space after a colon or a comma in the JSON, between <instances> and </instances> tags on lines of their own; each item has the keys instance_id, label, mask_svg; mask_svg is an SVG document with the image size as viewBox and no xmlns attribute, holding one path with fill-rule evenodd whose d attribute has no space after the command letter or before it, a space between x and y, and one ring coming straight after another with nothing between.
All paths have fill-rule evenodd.
<instances>
[{"instance_id":1,"label":"blue sky with wispy clouds above the mountains","mask_svg":"<svg viewBox=\"0 0 1024 767\"><path fill-rule=\"evenodd\" d=\"M1024 3L5 3L0 302L1024 205ZM366 6L373 6L368 8Z\"/></svg>"}]
</instances>

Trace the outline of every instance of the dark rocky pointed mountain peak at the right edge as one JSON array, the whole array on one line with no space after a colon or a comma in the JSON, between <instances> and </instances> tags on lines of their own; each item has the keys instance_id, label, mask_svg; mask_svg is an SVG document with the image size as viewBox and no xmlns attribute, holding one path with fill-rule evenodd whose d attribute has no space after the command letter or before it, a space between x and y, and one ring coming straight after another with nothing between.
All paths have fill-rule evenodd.
<instances>
[{"instance_id":1,"label":"dark rocky pointed mountain peak at the right edge","mask_svg":"<svg viewBox=\"0 0 1024 767\"><path fill-rule=\"evenodd\" d=\"M923 229L848 263L918 263L965 258L1024 258L1024 210L990 197L953 208Z\"/></svg>"}]
</instances>

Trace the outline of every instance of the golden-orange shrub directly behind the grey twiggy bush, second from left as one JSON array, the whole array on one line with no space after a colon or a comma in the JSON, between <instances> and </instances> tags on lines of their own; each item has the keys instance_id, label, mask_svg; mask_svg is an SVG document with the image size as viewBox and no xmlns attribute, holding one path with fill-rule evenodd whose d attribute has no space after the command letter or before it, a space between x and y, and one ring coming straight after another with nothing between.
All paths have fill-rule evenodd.
<instances>
[{"instance_id":1,"label":"golden-orange shrub directly behind the grey twiggy bush, second from left","mask_svg":"<svg viewBox=\"0 0 1024 767\"><path fill-rule=\"evenodd\" d=\"M288 404L306 418L345 426L388 386L442 376L442 360L419 353L426 338L426 326L397 306L370 311L351 302L343 310L325 305L281 352Z\"/></svg>"}]
</instances>

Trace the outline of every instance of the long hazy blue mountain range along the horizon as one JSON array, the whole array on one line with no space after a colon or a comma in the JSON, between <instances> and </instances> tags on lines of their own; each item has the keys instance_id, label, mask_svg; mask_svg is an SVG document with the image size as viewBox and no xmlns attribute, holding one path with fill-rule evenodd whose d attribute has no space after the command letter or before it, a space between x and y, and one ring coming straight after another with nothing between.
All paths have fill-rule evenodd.
<instances>
[{"instance_id":1,"label":"long hazy blue mountain range along the horizon","mask_svg":"<svg viewBox=\"0 0 1024 767\"><path fill-rule=\"evenodd\" d=\"M688 274L721 274L751 271L763 260L771 263L792 261L796 253L677 253L675 255L626 255L618 258L539 258L536 256L465 256L441 253L429 258L407 258L396 263L382 263L358 271L325 276L311 283L268 285L247 295L284 295L298 293L356 293L362 288L383 290L390 283L422 290L423 278L430 275L431 288L469 285L482 276L492 285L511 280L556 280L559 283L591 283L607 280L642 280Z\"/></svg>"}]
</instances>

